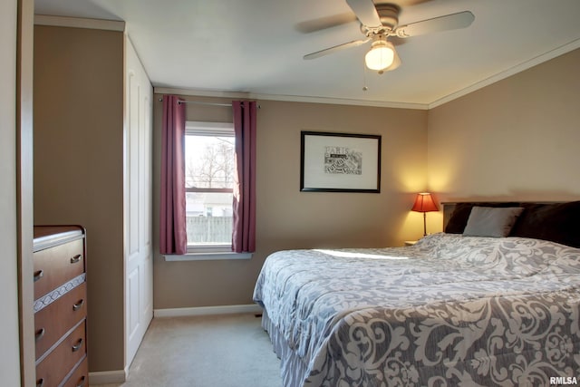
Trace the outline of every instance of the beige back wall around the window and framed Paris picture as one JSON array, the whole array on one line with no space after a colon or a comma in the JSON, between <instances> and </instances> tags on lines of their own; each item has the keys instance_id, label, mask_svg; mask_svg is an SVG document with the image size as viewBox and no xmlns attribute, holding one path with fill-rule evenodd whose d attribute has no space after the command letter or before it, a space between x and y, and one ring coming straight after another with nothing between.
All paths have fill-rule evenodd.
<instances>
[{"instance_id":1,"label":"beige back wall around the window and framed Paris picture","mask_svg":"<svg viewBox=\"0 0 580 387\"><path fill-rule=\"evenodd\" d=\"M154 111L153 201L157 241L159 98L156 95ZM422 233L420 214L410 213L409 209L413 193L426 187L427 111L300 102L258 103L261 109L257 117L256 254L251 260L242 261L165 262L156 253L156 309L252 304L258 272L266 256L275 250L401 246L404 239L417 238ZM231 120L231 112L189 104L188 119ZM300 192L303 130L381 134L381 193ZM155 251L159 252L158 246Z\"/></svg>"}]
</instances>

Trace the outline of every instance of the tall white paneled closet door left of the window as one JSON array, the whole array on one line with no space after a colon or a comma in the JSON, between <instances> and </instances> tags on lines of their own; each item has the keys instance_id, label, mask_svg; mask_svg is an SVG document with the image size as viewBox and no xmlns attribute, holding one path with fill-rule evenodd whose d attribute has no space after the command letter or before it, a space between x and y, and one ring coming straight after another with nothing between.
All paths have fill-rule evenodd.
<instances>
[{"instance_id":1,"label":"tall white paneled closet door left of the window","mask_svg":"<svg viewBox=\"0 0 580 387\"><path fill-rule=\"evenodd\" d=\"M128 370L153 317L153 91L128 37L125 53L125 369Z\"/></svg>"}]
</instances>

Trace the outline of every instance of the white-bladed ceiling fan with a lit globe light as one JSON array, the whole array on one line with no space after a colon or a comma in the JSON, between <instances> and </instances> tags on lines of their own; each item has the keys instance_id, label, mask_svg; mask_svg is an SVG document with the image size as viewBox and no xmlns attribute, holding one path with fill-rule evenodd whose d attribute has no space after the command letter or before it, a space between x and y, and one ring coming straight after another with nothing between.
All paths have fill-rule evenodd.
<instances>
[{"instance_id":1,"label":"white-bladed ceiling fan with a lit globe light","mask_svg":"<svg viewBox=\"0 0 580 387\"><path fill-rule=\"evenodd\" d=\"M304 55L304 59L315 59L329 53L335 53L344 48L355 47L372 41L371 50L366 53L364 62L371 70L379 73L388 72L401 65L401 59L395 51L389 37L407 38L421 34L466 28L473 22L475 16L469 11L457 14L434 17L416 23L399 25L401 8L391 3L375 5L372 0L346 0L354 15L361 23L364 38L352 42L338 44L315 53Z\"/></svg>"}]
</instances>

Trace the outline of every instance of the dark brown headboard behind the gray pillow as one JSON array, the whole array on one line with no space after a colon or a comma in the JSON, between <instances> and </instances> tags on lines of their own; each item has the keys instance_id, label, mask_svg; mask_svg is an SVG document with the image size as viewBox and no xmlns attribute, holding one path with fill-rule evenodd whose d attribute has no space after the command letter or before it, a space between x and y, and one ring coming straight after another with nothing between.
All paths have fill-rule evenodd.
<instances>
[{"instance_id":1,"label":"dark brown headboard behind the gray pillow","mask_svg":"<svg viewBox=\"0 0 580 387\"><path fill-rule=\"evenodd\" d=\"M443 231L461 234L471 208L522 207L511 237L533 237L580 247L580 201L569 202L443 202Z\"/></svg>"}]
</instances>

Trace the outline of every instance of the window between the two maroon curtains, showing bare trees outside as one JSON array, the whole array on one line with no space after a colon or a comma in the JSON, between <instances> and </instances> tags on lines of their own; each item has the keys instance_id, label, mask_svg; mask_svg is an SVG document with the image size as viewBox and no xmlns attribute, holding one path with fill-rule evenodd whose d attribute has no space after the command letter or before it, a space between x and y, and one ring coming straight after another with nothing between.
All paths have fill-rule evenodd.
<instances>
[{"instance_id":1,"label":"window between the two maroon curtains, showing bare trees outside","mask_svg":"<svg viewBox=\"0 0 580 387\"><path fill-rule=\"evenodd\" d=\"M186 122L188 251L230 252L235 137L231 122Z\"/></svg>"}]
</instances>

